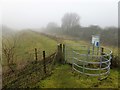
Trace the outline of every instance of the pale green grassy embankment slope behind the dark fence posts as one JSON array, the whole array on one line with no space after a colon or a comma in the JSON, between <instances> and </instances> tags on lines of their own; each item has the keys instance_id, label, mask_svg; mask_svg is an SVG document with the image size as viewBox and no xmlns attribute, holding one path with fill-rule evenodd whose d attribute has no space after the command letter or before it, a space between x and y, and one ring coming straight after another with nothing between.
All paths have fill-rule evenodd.
<instances>
[{"instance_id":1,"label":"pale green grassy embankment slope behind the dark fence posts","mask_svg":"<svg viewBox=\"0 0 120 90\"><path fill-rule=\"evenodd\" d=\"M44 50L46 51L46 56L49 56L57 49L57 42L55 40L34 31L20 31L16 34L16 37L18 39L15 47L14 63L16 63L18 67L21 67L21 65L24 65L27 61L35 60L35 48L38 50L38 60L41 60ZM3 38L3 40L5 39ZM8 40L10 43L13 41L12 37L8 38ZM2 63L3 65L7 64L4 54Z\"/></svg>"}]
</instances>

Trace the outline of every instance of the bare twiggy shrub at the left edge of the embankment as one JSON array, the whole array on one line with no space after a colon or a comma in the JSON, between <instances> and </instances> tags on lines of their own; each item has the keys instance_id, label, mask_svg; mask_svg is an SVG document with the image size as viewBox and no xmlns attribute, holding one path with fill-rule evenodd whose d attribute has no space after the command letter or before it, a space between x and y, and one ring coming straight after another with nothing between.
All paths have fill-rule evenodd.
<instances>
[{"instance_id":1,"label":"bare twiggy shrub at the left edge of the embankment","mask_svg":"<svg viewBox=\"0 0 120 90\"><path fill-rule=\"evenodd\" d=\"M13 65L14 65L14 58L15 58L15 50L17 47L17 40L18 38L16 36L12 36L11 38L3 37L2 41L2 52L4 55L4 59L7 61L8 67L11 69L12 72L14 72Z\"/></svg>"}]
</instances>

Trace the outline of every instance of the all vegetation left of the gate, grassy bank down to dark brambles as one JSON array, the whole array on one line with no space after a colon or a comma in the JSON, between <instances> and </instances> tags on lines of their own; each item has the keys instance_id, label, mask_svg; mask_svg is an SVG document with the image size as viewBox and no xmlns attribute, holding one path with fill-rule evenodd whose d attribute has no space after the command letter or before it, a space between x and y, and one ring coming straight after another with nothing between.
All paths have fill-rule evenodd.
<instances>
[{"instance_id":1,"label":"all vegetation left of the gate, grassy bank down to dark brambles","mask_svg":"<svg viewBox=\"0 0 120 90\"><path fill-rule=\"evenodd\" d=\"M17 41L16 37L13 38L11 35L9 38L3 38L3 45L7 46L7 48L3 47L3 50L8 50L7 54L11 55L10 57L5 56L3 52L3 89L34 88L37 82L51 74L54 68L57 42L30 30L16 33L16 36L19 37ZM17 45L14 43L17 43ZM11 49L13 47L14 50ZM35 48L38 54L37 61L35 59ZM45 66L43 66L43 50L46 51ZM9 51L13 52L14 55ZM7 62L7 58L9 58L10 62L12 61L12 64ZM46 67L46 74L44 73L44 67Z\"/></svg>"}]
</instances>

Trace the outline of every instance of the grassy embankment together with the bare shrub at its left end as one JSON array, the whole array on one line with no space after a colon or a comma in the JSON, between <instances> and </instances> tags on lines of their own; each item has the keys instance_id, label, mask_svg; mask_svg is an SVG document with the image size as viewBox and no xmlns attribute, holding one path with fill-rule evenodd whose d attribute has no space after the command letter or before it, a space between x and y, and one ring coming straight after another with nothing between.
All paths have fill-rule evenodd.
<instances>
[{"instance_id":1,"label":"grassy embankment together with the bare shrub at its left end","mask_svg":"<svg viewBox=\"0 0 120 90\"><path fill-rule=\"evenodd\" d=\"M57 45L56 41L33 31L21 31L16 33L15 37L3 37L3 42L3 72L8 69L9 62L12 62L14 69L14 66L16 66L16 69L20 69L25 66L27 62L34 61L35 48L38 50L38 60L41 60L43 50L46 51L46 56L49 56L55 52ZM7 46L4 48L5 45ZM7 50L8 53L4 52L4 50ZM14 57L11 52L14 54ZM6 57L5 55L11 56ZM9 63L9 65L11 65L11 63Z\"/></svg>"}]
</instances>

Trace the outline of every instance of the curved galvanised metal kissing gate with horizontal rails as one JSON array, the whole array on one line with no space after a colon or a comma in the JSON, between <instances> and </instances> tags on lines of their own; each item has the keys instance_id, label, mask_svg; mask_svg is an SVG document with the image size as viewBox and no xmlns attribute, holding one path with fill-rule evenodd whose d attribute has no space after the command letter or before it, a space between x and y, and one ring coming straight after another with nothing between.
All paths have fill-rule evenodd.
<instances>
[{"instance_id":1,"label":"curved galvanised metal kissing gate with horizontal rails","mask_svg":"<svg viewBox=\"0 0 120 90\"><path fill-rule=\"evenodd\" d=\"M110 73L112 51L103 47L66 44L65 60L74 71L89 76L106 78Z\"/></svg>"}]
</instances>

